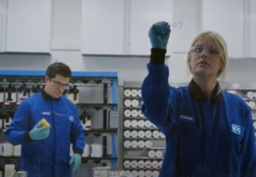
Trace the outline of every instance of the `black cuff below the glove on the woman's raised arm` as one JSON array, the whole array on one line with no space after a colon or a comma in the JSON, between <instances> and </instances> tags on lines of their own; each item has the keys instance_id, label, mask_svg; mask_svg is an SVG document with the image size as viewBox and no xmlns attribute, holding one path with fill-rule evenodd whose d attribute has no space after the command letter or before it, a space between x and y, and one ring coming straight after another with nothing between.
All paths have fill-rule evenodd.
<instances>
[{"instance_id":1,"label":"black cuff below the glove on the woman's raised arm","mask_svg":"<svg viewBox=\"0 0 256 177\"><path fill-rule=\"evenodd\" d=\"M166 49L152 48L150 54L150 64L164 65Z\"/></svg>"}]
</instances>

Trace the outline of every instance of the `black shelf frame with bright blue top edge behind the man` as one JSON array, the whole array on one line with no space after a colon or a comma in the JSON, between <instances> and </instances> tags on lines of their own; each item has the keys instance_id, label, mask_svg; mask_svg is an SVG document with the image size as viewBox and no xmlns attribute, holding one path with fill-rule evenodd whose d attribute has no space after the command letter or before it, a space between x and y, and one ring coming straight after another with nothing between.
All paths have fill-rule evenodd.
<instances>
[{"instance_id":1,"label":"black shelf frame with bright blue top edge behind the man","mask_svg":"<svg viewBox=\"0 0 256 177\"><path fill-rule=\"evenodd\" d=\"M37 83L45 80L46 71L40 70L0 70L0 83L3 82L15 82L19 80L20 82L30 81L31 83ZM87 84L93 81L96 84L103 84L103 103L78 103L77 106L80 109L87 109L89 107L96 110L103 109L103 129L91 129L85 131L85 135L93 134L95 136L101 134L112 134L112 152L111 156L107 155L107 138L103 136L103 157L102 158L82 158L82 162L87 162L88 160L93 160L95 163L100 161L111 161L111 168L116 168L117 161L121 157L119 152L116 152L115 142L117 129L108 129L107 127L107 117L108 109L117 111L117 94L118 94L118 73L117 72L80 72L73 71L72 79L70 79L70 84L81 83ZM112 86L112 101L108 103L108 84ZM13 109L14 105L1 104L0 107L6 107L7 109ZM119 146L119 144L117 144ZM6 159L8 161L19 160L19 157L1 157L1 159ZM106 165L106 164L104 164Z\"/></svg>"}]
</instances>

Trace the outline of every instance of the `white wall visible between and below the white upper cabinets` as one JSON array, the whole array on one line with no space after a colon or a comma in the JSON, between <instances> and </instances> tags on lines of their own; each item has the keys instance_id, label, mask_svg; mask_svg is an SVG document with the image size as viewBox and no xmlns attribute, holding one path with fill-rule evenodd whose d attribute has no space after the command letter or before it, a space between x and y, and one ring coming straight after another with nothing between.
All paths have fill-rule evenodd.
<instances>
[{"instance_id":1,"label":"white wall visible between and below the white upper cabinets","mask_svg":"<svg viewBox=\"0 0 256 177\"><path fill-rule=\"evenodd\" d=\"M202 27L200 20L200 0L187 1L174 0L173 22L179 19L183 21L182 29L173 28L169 48L173 45L186 46L178 51L176 47L172 56L166 60L170 67L170 81L184 82L189 81L190 76L186 67L186 48L189 47L192 37L195 36ZM197 6L195 5L197 4ZM199 5L198 5L199 4ZM192 6L193 5L193 6ZM82 56L81 55L81 26L82 26L82 0L54 0L52 4L52 48L51 56L47 55L0 55L1 70L45 70L46 67L58 60L67 63L74 71L117 71L119 73L119 85L122 81L142 81L147 74L146 64L148 57L116 57L116 56ZM186 8L185 8L186 7ZM189 8L189 15L186 14ZM180 10L178 10L180 8ZM143 10L143 7L141 7ZM188 12L187 12L188 13ZM188 20L189 17L189 20ZM254 18L254 16L252 16ZM192 22L192 21L193 22ZM254 20L255 22L255 20ZM225 28L228 28L226 26ZM104 29L104 27L102 27ZM187 31L183 42L175 43ZM232 31L230 32L232 33ZM147 31L145 31L147 35ZM97 39L100 42L100 39ZM149 42L149 41L148 41ZM237 41L243 48L243 41ZM148 49L149 51L150 49ZM148 52L149 54L149 52ZM241 64L243 64L241 66ZM255 66L254 60L230 61L230 67L227 73L227 81L232 82L255 82L252 66ZM231 68L232 66L232 68ZM234 69L236 68L236 69ZM239 77L237 77L239 76Z\"/></svg>"}]
</instances>

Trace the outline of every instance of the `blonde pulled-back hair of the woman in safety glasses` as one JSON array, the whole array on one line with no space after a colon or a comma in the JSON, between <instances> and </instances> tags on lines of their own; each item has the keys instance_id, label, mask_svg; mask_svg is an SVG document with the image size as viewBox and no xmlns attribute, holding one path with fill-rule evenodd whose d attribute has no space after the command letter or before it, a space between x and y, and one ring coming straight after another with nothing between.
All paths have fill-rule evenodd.
<instances>
[{"instance_id":1,"label":"blonde pulled-back hair of the woman in safety glasses","mask_svg":"<svg viewBox=\"0 0 256 177\"><path fill-rule=\"evenodd\" d=\"M191 48L195 45L195 43L197 43L197 41L199 41L200 39L202 39L203 37L210 37L217 45L217 48L219 50L221 50L221 58L222 58L222 62L221 62L221 67L220 70L217 74L217 78L221 78L221 85L224 85L224 76L226 73L226 66L228 63L228 50L227 50L227 44L225 39L217 32L215 31L205 31L200 33L197 37L195 37L194 41L192 42L190 48L189 48L189 53L187 55L187 65L189 67L189 71L192 73L191 67L190 67L190 62L191 62L191 54L190 54L190 50ZM222 90L222 89L221 89Z\"/></svg>"}]
</instances>

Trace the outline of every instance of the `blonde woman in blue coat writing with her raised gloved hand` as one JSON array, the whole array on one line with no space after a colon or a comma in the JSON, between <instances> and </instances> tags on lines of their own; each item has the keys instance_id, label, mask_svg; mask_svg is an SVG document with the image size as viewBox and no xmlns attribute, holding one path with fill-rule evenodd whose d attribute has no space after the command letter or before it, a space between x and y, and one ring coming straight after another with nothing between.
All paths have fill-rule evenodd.
<instances>
[{"instance_id":1,"label":"blonde woman in blue coat writing with her raised gloved hand","mask_svg":"<svg viewBox=\"0 0 256 177\"><path fill-rule=\"evenodd\" d=\"M168 84L164 64L170 35L167 22L153 24L142 111L166 136L159 177L256 177L256 148L250 108L217 81L224 77L228 52L223 37L208 31L191 44L187 87Z\"/></svg>"}]
</instances>

